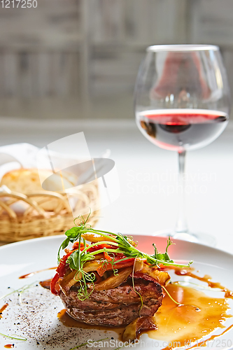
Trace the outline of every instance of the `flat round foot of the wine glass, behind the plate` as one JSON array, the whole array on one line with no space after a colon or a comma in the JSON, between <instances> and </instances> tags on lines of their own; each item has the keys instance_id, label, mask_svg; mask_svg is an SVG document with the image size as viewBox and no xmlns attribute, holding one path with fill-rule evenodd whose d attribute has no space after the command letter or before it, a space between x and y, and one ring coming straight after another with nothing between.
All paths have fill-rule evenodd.
<instances>
[{"instance_id":1,"label":"flat round foot of the wine glass, behind the plate","mask_svg":"<svg viewBox=\"0 0 233 350\"><path fill-rule=\"evenodd\" d=\"M168 237L174 239L182 239L183 241L191 241L194 243L204 244L206 246L216 246L216 238L202 232L176 232L174 230L161 230L153 234L153 236Z\"/></svg>"}]
</instances>

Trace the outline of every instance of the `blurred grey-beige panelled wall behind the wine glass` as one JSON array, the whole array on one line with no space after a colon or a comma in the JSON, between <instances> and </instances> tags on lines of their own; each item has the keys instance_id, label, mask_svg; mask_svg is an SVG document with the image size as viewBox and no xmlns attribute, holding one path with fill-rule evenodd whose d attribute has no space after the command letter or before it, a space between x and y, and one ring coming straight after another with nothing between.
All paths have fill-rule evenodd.
<instances>
[{"instance_id":1,"label":"blurred grey-beige panelled wall behind the wine glass","mask_svg":"<svg viewBox=\"0 0 233 350\"><path fill-rule=\"evenodd\" d=\"M0 6L0 116L133 118L146 46L220 45L233 91L232 0L38 0Z\"/></svg>"}]
</instances>

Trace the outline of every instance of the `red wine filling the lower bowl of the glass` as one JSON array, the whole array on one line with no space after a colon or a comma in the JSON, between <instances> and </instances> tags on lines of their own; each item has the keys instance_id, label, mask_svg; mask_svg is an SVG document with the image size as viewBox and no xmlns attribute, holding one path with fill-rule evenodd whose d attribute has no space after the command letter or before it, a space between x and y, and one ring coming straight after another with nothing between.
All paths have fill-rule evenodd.
<instances>
[{"instance_id":1,"label":"red wine filling the lower bowl of the glass","mask_svg":"<svg viewBox=\"0 0 233 350\"><path fill-rule=\"evenodd\" d=\"M228 116L206 109L156 109L136 112L136 123L153 144L181 152L211 144L225 129Z\"/></svg>"}]
</instances>

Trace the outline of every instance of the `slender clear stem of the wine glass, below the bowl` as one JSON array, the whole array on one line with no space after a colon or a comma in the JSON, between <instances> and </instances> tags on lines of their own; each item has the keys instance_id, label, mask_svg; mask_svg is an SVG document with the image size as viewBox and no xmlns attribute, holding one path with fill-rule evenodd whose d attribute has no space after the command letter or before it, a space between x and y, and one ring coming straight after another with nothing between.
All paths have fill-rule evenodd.
<instances>
[{"instance_id":1,"label":"slender clear stem of the wine glass, below the bowl","mask_svg":"<svg viewBox=\"0 0 233 350\"><path fill-rule=\"evenodd\" d=\"M175 231L188 233L188 225L185 218L185 151L178 153L178 218Z\"/></svg>"}]
</instances>

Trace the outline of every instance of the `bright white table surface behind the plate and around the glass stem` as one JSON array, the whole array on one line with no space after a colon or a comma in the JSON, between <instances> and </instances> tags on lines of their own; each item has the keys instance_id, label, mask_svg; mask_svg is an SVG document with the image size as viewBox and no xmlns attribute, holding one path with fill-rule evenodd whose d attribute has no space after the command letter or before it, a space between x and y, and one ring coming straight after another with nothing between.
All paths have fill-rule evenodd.
<instances>
[{"instance_id":1,"label":"bright white table surface behind the plate and around the glass stem","mask_svg":"<svg viewBox=\"0 0 233 350\"><path fill-rule=\"evenodd\" d=\"M43 147L84 132L93 158L111 149L121 194L102 209L97 228L150 235L174 227L178 157L150 144L134 120L0 118L0 122L0 146L28 142ZM213 144L188 153L186 172L190 229L215 236L218 248L233 253L233 122Z\"/></svg>"}]
</instances>

